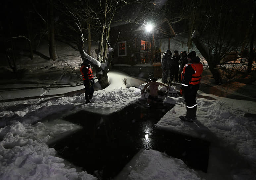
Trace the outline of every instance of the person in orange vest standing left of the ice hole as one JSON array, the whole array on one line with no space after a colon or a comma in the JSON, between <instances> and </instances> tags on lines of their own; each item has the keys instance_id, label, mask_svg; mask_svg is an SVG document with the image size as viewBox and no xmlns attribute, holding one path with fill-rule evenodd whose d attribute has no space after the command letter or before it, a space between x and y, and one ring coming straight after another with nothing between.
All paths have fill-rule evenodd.
<instances>
[{"instance_id":1,"label":"person in orange vest standing left of the ice hole","mask_svg":"<svg viewBox=\"0 0 256 180\"><path fill-rule=\"evenodd\" d=\"M86 104L90 103L90 99L92 99L94 88L93 85L95 84L93 79L93 73L90 66L90 61L88 59L83 60L83 63L81 64L80 71L82 73L83 77L83 85L85 87L85 101Z\"/></svg>"}]
</instances>

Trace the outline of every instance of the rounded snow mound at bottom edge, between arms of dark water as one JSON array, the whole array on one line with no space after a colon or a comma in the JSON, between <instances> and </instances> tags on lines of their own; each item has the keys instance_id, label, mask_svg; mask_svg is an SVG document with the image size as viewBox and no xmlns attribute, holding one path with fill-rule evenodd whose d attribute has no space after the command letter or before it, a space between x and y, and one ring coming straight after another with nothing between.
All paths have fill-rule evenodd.
<instances>
[{"instance_id":1,"label":"rounded snow mound at bottom edge, between arms of dark water","mask_svg":"<svg viewBox=\"0 0 256 180\"><path fill-rule=\"evenodd\" d=\"M128 176L129 180L200 180L200 176L180 159L159 151L143 151Z\"/></svg>"}]
</instances>

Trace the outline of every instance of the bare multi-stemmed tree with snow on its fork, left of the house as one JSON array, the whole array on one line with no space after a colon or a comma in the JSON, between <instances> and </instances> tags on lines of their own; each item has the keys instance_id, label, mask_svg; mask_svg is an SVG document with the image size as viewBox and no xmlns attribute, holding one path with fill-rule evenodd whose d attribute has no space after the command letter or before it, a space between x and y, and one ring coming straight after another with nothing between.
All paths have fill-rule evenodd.
<instances>
[{"instance_id":1,"label":"bare multi-stemmed tree with snow on its fork, left of the house","mask_svg":"<svg viewBox=\"0 0 256 180\"><path fill-rule=\"evenodd\" d=\"M69 27L75 31L77 37L77 47L81 55L82 60L85 58L89 59L91 66L96 70L96 77L102 88L108 86L108 75L109 67L112 62L113 48L109 43L110 25L113 18L118 10L118 8L126 5L127 2L124 0L96 0L93 1L79 1L77 4L64 4L66 14L71 15L75 26L69 24ZM98 53L103 53L103 62L101 62L101 57L94 59L90 56L90 45L88 44L87 52L84 50L84 43L90 43L91 28L93 28L94 37L99 37L97 40L99 43ZM84 34L87 34L88 39L85 38ZM100 34L100 35L99 35ZM107 55L107 61L104 57Z\"/></svg>"}]
</instances>

